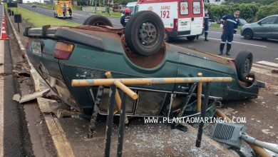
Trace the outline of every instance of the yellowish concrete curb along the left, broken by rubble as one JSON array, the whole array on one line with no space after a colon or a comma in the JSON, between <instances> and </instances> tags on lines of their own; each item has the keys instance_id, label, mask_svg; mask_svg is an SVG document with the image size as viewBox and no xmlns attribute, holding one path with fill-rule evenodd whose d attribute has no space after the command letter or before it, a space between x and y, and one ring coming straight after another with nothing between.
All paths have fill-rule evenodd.
<instances>
[{"instance_id":1,"label":"yellowish concrete curb along the left, broken by rubble","mask_svg":"<svg viewBox=\"0 0 278 157\"><path fill-rule=\"evenodd\" d=\"M7 14L8 15L8 14ZM36 91L42 91L43 89L47 88L45 86L41 86L40 79L41 76L38 74L38 72L34 69L34 66L29 61L29 58L26 54L26 49L24 49L23 44L21 43L21 40L19 38L19 34L17 34L16 29L14 29L14 24L11 22L11 19L9 16L7 16L9 19L9 23L11 24L11 28L14 31L14 35L16 36L16 40L19 44L19 47L21 51L23 52L26 60L28 61L28 64L30 66L30 73L31 78L35 86ZM43 80L42 80L43 81ZM43 106L41 103L44 103L43 101L38 101L38 106L41 109L41 106ZM66 134L63 131L63 128L61 127L61 123L58 122L57 118L54 118L51 115L46 115L43 113L43 117L45 118L46 125L48 127L49 132L51 133L51 138L53 140L54 146L56 148L56 152L58 156L67 156L71 157L73 155L73 149L71 148L71 144L66 138Z\"/></svg>"}]
</instances>

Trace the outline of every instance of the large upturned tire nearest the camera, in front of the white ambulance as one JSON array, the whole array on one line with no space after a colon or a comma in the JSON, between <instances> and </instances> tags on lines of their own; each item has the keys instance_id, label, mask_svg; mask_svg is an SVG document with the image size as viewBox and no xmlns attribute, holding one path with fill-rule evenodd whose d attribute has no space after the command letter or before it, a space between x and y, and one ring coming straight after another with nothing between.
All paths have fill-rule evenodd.
<instances>
[{"instance_id":1,"label":"large upturned tire nearest the camera, in front of the white ambulance","mask_svg":"<svg viewBox=\"0 0 278 157\"><path fill-rule=\"evenodd\" d=\"M153 11L139 11L125 26L125 43L135 54L151 56L163 45L165 29Z\"/></svg>"}]
</instances>

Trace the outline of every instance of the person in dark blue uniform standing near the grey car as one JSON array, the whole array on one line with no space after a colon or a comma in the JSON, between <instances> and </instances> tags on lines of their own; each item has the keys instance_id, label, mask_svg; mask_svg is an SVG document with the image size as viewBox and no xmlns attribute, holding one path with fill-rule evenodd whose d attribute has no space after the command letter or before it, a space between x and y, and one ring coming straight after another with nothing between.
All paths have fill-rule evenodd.
<instances>
[{"instance_id":1,"label":"person in dark blue uniform standing near the grey car","mask_svg":"<svg viewBox=\"0 0 278 157\"><path fill-rule=\"evenodd\" d=\"M232 48L232 40L234 39L234 34L237 34L237 26L239 25L240 10L236 9L234 14L229 14L227 16L223 16L221 19L221 26L223 26L223 32L221 36L221 44L220 44L220 53L223 54L223 50L225 47L225 43L227 41L227 56L230 56L230 50Z\"/></svg>"}]
</instances>

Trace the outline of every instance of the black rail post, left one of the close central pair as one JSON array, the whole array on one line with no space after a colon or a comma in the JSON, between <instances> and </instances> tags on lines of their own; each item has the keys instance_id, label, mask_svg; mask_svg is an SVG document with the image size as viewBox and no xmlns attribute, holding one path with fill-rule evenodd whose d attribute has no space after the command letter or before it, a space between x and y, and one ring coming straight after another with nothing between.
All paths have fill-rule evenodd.
<instances>
[{"instance_id":1,"label":"black rail post, left one of the close central pair","mask_svg":"<svg viewBox=\"0 0 278 157\"><path fill-rule=\"evenodd\" d=\"M115 88L116 87L114 84L110 86L108 117L106 121L106 135L105 135L105 153L104 153L105 157L110 156L113 116L114 116L114 108L115 108Z\"/></svg>"}]
</instances>

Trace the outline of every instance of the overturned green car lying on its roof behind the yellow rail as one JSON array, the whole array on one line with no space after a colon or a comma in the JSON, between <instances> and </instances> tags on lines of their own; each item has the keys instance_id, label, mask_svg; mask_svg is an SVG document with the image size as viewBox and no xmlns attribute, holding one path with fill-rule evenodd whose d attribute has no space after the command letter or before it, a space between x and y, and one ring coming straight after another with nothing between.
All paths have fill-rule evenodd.
<instances>
[{"instance_id":1,"label":"overturned green car lying on its roof behind the yellow rail","mask_svg":"<svg viewBox=\"0 0 278 157\"><path fill-rule=\"evenodd\" d=\"M232 77L232 83L212 83L210 106L215 101L257 98L264 83L250 74L252 54L242 51L235 60L186 49L164 42L160 17L150 11L133 15L125 28L115 29L103 16L91 16L86 25L43 26L26 28L27 55L31 64L68 105L91 115L96 101L99 113L106 114L109 89L73 87L73 79ZM167 106L171 93L176 108L187 95L191 84L148 84L129 86L138 93L138 100L127 101L128 116L159 116ZM190 100L187 113L195 113L196 98ZM166 107L167 108L167 107Z\"/></svg>"}]
</instances>

